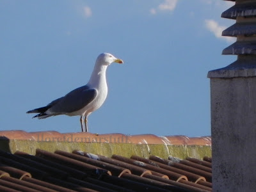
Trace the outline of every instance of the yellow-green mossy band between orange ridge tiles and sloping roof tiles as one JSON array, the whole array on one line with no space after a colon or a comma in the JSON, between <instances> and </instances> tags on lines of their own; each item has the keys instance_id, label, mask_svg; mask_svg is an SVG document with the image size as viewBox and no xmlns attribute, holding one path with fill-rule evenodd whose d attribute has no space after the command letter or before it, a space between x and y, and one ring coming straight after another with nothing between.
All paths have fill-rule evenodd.
<instances>
[{"instance_id":1,"label":"yellow-green mossy band between orange ridge tiles and sloping roof tiles","mask_svg":"<svg viewBox=\"0 0 256 192\"><path fill-rule=\"evenodd\" d=\"M30 141L30 140L10 140L1 141L1 150L16 152L20 150L28 154L35 155L36 148L54 152L55 150L64 150L72 152L73 150L82 150L92 154L111 157L117 154L124 157L132 155L148 158L150 155L168 158L168 156L195 157L202 159L204 156L211 157L211 146L199 145L153 145L153 144L133 144L133 143L83 143L67 141Z\"/></svg>"}]
</instances>

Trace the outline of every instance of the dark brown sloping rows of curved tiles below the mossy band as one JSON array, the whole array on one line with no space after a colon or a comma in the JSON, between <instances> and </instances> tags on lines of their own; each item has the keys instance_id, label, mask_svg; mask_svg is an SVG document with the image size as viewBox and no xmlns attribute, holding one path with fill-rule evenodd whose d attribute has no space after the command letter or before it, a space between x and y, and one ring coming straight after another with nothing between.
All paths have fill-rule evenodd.
<instances>
[{"instance_id":1,"label":"dark brown sloping rows of curved tiles below the mossy band","mask_svg":"<svg viewBox=\"0 0 256 192\"><path fill-rule=\"evenodd\" d=\"M211 178L211 157L0 151L0 191L211 191Z\"/></svg>"}]
</instances>

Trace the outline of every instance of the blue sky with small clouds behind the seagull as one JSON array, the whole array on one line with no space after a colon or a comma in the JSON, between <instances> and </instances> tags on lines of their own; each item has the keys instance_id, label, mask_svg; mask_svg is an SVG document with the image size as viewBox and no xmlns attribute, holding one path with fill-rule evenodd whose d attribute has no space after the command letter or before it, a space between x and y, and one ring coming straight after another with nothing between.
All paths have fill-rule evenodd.
<instances>
[{"instance_id":1,"label":"blue sky with small clouds behind the seagull","mask_svg":"<svg viewBox=\"0 0 256 192\"><path fill-rule=\"evenodd\" d=\"M216 0L0 1L0 129L81 131L79 116L31 119L90 78L95 59L124 60L107 71L108 98L88 117L90 132L211 135L207 72L235 56L221 51L234 20Z\"/></svg>"}]
</instances>

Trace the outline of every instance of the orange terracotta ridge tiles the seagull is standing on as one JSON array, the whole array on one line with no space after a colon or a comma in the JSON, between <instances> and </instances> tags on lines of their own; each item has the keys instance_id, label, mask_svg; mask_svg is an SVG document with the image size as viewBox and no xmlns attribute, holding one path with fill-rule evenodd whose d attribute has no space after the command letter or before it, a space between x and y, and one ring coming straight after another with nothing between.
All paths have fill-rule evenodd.
<instances>
[{"instance_id":1,"label":"orange terracotta ridge tiles the seagull is standing on","mask_svg":"<svg viewBox=\"0 0 256 192\"><path fill-rule=\"evenodd\" d=\"M92 134L90 132L60 133L57 131L26 132L0 131L0 137L9 140L35 141L72 141L99 143L136 143L136 144L164 144L164 145L211 145L211 137L187 136L156 136L154 134L125 135L125 134Z\"/></svg>"}]
</instances>

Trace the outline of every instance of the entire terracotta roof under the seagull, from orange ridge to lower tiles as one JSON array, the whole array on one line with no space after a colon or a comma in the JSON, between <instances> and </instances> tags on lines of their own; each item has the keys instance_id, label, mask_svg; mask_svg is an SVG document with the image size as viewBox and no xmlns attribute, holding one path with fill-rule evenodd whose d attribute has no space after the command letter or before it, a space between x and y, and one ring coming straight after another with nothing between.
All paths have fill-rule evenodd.
<instances>
[{"instance_id":1,"label":"entire terracotta roof under the seagull, from orange ridge to lower tiles","mask_svg":"<svg viewBox=\"0 0 256 192\"><path fill-rule=\"evenodd\" d=\"M211 154L211 137L0 131L0 141L8 151L0 150L0 191L212 191L211 157L169 156L173 148L189 154L186 145L199 150L210 145L206 148ZM9 142L9 147L17 147L11 150ZM24 147L27 153L22 152L20 143L33 150ZM45 144L49 147L40 149ZM104 154L102 146L115 150L109 150L108 157L98 155ZM130 147L136 147L131 150L136 155L122 153Z\"/></svg>"}]
</instances>

